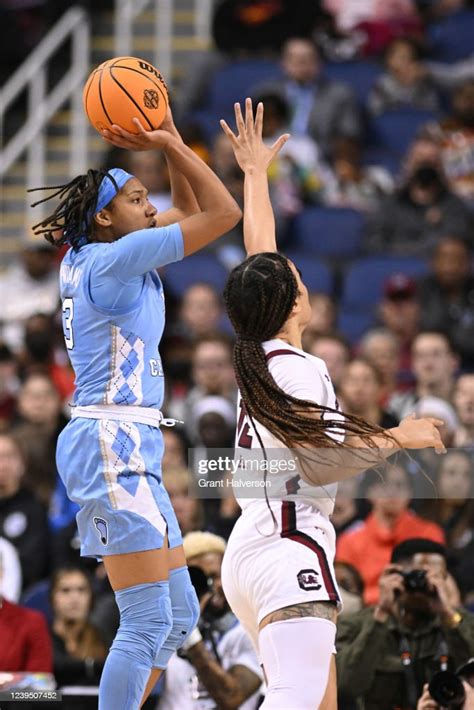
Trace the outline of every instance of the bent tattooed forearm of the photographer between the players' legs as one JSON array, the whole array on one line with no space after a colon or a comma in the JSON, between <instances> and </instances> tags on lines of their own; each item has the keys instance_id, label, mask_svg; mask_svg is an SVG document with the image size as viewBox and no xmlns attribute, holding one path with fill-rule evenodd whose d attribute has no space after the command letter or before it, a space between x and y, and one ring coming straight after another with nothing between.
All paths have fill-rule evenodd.
<instances>
[{"instance_id":1,"label":"bent tattooed forearm of the photographer between the players' legs","mask_svg":"<svg viewBox=\"0 0 474 710\"><path fill-rule=\"evenodd\" d=\"M261 685L260 678L246 666L236 665L225 671L202 641L186 655L219 710L236 710Z\"/></svg>"}]
</instances>

